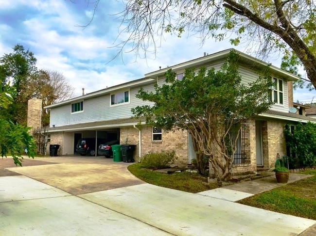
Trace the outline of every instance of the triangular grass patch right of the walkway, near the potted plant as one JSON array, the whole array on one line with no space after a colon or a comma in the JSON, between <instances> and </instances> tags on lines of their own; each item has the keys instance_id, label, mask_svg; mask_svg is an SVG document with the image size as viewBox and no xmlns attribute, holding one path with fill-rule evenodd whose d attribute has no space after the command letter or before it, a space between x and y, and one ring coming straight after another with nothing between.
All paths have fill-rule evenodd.
<instances>
[{"instance_id":1,"label":"triangular grass patch right of the walkway, near the potted plant","mask_svg":"<svg viewBox=\"0 0 316 236\"><path fill-rule=\"evenodd\" d=\"M314 176L257 194L238 203L316 220L316 170L301 174Z\"/></svg>"}]
</instances>

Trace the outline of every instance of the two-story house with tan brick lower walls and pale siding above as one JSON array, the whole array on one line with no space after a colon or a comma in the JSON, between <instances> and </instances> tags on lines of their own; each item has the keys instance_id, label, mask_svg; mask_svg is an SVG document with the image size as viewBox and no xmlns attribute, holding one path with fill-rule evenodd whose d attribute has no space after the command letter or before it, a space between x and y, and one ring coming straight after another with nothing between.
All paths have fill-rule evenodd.
<instances>
[{"instance_id":1,"label":"two-story house with tan brick lower walls and pale siding above","mask_svg":"<svg viewBox=\"0 0 316 236\"><path fill-rule=\"evenodd\" d=\"M182 79L184 70L189 67L207 66L219 69L230 51L231 49L220 51L159 69L145 74L142 79L47 106L46 109L51 110L50 127L47 129L51 141L49 144L61 146L59 155L73 155L76 142L81 137L107 138L117 134L121 144L137 145L136 160L150 151L174 149L179 162L191 163L195 152L192 138L186 131L165 133L164 130L145 126L144 123L139 126L137 120L131 119L131 108L150 104L135 95L141 87L154 91L155 83L164 83L164 74L168 69L175 71L178 79ZM258 78L256 72L267 63L242 52L239 54L242 82L248 84ZM275 104L255 119L248 120L244 126L235 154L234 174L256 173L257 166L272 168L277 153L280 156L286 155L285 124L316 121L289 112L289 108L293 107L292 81L298 77L275 66L270 68L272 79L276 82L271 94Z\"/></svg>"}]
</instances>

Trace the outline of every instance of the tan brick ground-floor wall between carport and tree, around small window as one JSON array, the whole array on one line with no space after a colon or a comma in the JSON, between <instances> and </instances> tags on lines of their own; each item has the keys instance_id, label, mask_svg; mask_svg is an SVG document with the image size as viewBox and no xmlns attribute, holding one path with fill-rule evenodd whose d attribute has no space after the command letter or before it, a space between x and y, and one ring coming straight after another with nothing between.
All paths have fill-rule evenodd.
<instances>
[{"instance_id":1,"label":"tan brick ground-floor wall between carport and tree, around small window","mask_svg":"<svg viewBox=\"0 0 316 236\"><path fill-rule=\"evenodd\" d=\"M139 160L139 131L134 127L121 128L120 143L135 144L134 159ZM152 127L141 126L141 155L162 150L175 150L178 163L188 163L188 134L186 131L166 133L162 130L162 140L152 141Z\"/></svg>"}]
</instances>

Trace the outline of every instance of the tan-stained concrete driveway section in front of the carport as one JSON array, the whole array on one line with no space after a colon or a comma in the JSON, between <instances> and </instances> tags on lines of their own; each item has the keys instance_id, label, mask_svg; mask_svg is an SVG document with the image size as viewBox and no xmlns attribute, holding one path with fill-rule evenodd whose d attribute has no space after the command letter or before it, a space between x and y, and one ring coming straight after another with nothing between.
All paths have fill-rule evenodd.
<instances>
[{"instance_id":1,"label":"tan-stained concrete driveway section in front of the carport","mask_svg":"<svg viewBox=\"0 0 316 236\"><path fill-rule=\"evenodd\" d=\"M24 162L23 167L6 169L73 195L144 183L127 170L132 163L114 162L111 158L45 157L25 158ZM39 165L39 162L45 164Z\"/></svg>"}]
</instances>

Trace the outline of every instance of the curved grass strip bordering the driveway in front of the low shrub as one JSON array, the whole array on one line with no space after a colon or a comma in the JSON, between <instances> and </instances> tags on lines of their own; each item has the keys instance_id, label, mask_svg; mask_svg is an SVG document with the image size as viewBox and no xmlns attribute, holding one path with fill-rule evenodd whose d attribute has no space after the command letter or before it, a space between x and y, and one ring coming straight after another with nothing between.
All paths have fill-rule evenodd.
<instances>
[{"instance_id":1,"label":"curved grass strip bordering the driveway in front of the low shrub","mask_svg":"<svg viewBox=\"0 0 316 236\"><path fill-rule=\"evenodd\" d=\"M157 173L144 169L140 163L128 166L128 170L149 184L169 189L196 193L217 188L216 184L208 184L207 177L199 175L198 173Z\"/></svg>"}]
</instances>

